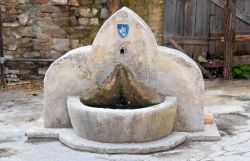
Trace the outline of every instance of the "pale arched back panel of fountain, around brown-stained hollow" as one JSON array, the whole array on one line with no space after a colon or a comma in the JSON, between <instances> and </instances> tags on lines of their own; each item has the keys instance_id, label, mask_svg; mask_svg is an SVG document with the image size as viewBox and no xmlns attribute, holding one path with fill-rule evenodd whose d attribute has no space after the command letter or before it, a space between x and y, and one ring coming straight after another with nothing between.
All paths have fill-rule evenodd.
<instances>
[{"instance_id":1,"label":"pale arched back panel of fountain, around brown-stained hollow","mask_svg":"<svg viewBox=\"0 0 250 161\"><path fill-rule=\"evenodd\" d=\"M124 38L117 24L129 26ZM87 96L118 64L160 96L177 96L176 131L203 130L204 81L199 67L184 53L158 46L148 25L128 8L103 24L92 46L72 50L51 65L44 82L45 127L71 127L67 96Z\"/></svg>"}]
</instances>

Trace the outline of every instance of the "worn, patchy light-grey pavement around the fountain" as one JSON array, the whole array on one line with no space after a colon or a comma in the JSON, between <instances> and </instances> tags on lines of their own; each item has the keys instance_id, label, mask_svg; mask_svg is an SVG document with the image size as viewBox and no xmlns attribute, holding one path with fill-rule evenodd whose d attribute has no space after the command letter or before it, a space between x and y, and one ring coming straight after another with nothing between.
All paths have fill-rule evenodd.
<instances>
[{"instance_id":1,"label":"worn, patchy light-grey pavement around the fountain","mask_svg":"<svg viewBox=\"0 0 250 161\"><path fill-rule=\"evenodd\" d=\"M205 111L215 113L218 142L185 142L167 152L102 155L71 150L56 140L27 141L24 132L42 126L43 92L0 90L0 161L249 161L250 81L206 82Z\"/></svg>"}]
</instances>

